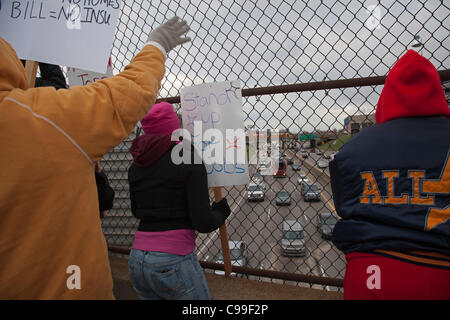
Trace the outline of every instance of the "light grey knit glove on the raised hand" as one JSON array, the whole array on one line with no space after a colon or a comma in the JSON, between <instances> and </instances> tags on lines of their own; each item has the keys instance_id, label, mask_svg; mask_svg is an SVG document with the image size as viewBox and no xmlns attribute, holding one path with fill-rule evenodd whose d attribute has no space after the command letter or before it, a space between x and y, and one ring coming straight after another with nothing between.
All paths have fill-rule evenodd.
<instances>
[{"instance_id":1,"label":"light grey knit glove on the raised hand","mask_svg":"<svg viewBox=\"0 0 450 320\"><path fill-rule=\"evenodd\" d=\"M191 40L189 37L182 37L189 31L189 26L186 21L179 20L179 17L173 17L153 30L148 36L147 44L156 46L166 58L170 50Z\"/></svg>"}]
</instances>

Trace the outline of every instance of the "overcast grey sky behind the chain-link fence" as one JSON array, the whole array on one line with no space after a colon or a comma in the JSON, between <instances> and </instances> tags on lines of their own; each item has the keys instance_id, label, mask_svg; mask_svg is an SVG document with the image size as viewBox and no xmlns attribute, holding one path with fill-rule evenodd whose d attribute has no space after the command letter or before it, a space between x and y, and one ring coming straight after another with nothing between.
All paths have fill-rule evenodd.
<instances>
[{"instance_id":1,"label":"overcast grey sky behind the chain-link fence","mask_svg":"<svg viewBox=\"0 0 450 320\"><path fill-rule=\"evenodd\" d=\"M450 68L445 1L122 1L115 72L172 16L191 27L192 42L169 55L160 97L214 81L253 88L386 75L415 35L422 55L438 70ZM374 112L381 89L244 97L244 120L260 129L341 128L348 115Z\"/></svg>"}]
</instances>

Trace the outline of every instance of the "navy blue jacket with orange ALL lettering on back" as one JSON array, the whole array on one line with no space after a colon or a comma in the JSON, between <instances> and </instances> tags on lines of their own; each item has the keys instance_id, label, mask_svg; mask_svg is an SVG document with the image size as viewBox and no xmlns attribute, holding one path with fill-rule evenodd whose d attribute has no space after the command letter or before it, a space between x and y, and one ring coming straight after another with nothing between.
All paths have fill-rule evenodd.
<instances>
[{"instance_id":1,"label":"navy blue jacket with orange ALL lettering on back","mask_svg":"<svg viewBox=\"0 0 450 320\"><path fill-rule=\"evenodd\" d=\"M366 128L330 162L344 253L450 254L450 118L411 117ZM446 210L445 210L446 209Z\"/></svg>"}]
</instances>

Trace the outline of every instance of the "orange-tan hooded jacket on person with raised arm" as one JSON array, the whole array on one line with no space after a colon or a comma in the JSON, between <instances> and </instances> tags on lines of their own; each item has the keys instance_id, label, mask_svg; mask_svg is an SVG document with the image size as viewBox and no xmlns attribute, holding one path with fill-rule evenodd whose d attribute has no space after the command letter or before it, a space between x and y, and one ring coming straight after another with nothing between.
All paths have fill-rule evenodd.
<instances>
[{"instance_id":1,"label":"orange-tan hooded jacket on person with raised arm","mask_svg":"<svg viewBox=\"0 0 450 320\"><path fill-rule=\"evenodd\" d=\"M147 45L112 78L28 88L0 38L0 299L114 298L94 163L148 112L164 73Z\"/></svg>"}]
</instances>

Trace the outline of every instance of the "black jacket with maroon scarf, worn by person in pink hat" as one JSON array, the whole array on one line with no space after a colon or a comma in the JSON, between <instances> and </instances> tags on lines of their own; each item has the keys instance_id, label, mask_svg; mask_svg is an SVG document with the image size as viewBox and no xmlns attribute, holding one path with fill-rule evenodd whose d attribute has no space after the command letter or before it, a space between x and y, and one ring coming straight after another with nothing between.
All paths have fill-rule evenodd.
<instances>
[{"instance_id":1,"label":"black jacket with maroon scarf, worn by person in pink hat","mask_svg":"<svg viewBox=\"0 0 450 320\"><path fill-rule=\"evenodd\" d=\"M174 146L167 135L145 134L133 140L128 181L132 213L140 220L138 230L211 232L230 215L228 203L223 198L210 206L204 164L174 164Z\"/></svg>"}]
</instances>

